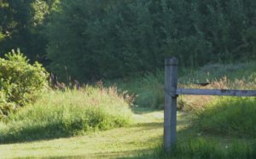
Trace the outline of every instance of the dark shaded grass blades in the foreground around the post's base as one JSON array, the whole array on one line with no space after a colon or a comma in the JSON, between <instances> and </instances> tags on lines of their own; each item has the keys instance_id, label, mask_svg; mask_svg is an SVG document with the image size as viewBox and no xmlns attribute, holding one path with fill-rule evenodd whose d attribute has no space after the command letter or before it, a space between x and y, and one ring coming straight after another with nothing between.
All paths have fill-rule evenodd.
<instances>
[{"instance_id":1,"label":"dark shaded grass blades in the foreground around the post's base","mask_svg":"<svg viewBox=\"0 0 256 159\"><path fill-rule=\"evenodd\" d=\"M165 153L161 146L153 153L142 154L133 159L161 158L161 159L253 159L256 157L256 144L236 142L230 145L219 145L216 140L211 139L189 139L177 146L170 152ZM125 157L124 157L125 158Z\"/></svg>"}]
</instances>

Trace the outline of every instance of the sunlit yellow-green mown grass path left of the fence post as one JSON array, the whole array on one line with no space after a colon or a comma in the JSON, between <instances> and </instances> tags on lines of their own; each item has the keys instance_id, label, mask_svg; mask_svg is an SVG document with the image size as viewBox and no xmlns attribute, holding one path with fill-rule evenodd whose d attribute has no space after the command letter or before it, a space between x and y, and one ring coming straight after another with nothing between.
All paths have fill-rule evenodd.
<instances>
[{"instance_id":1,"label":"sunlit yellow-green mown grass path left of the fence post","mask_svg":"<svg viewBox=\"0 0 256 159\"><path fill-rule=\"evenodd\" d=\"M0 158L117 158L137 156L160 145L163 111L139 111L125 128L84 136L0 145ZM179 113L178 116L183 115ZM183 127L180 122L179 127Z\"/></svg>"}]
</instances>

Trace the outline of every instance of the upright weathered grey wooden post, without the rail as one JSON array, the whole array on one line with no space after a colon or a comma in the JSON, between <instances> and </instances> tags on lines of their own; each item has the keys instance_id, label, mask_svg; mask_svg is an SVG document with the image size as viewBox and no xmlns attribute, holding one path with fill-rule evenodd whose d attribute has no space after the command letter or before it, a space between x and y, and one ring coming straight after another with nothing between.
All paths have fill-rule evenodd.
<instances>
[{"instance_id":1,"label":"upright weathered grey wooden post, without the rail","mask_svg":"<svg viewBox=\"0 0 256 159\"><path fill-rule=\"evenodd\" d=\"M177 142L177 63L176 58L167 58L165 66L165 117L164 149L172 150Z\"/></svg>"}]
</instances>

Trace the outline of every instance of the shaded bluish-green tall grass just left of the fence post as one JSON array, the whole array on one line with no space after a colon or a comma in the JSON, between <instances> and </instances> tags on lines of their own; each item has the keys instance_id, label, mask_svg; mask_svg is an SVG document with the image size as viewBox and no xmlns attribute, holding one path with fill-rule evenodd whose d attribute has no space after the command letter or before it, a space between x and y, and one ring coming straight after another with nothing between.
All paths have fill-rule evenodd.
<instances>
[{"instance_id":1,"label":"shaded bluish-green tall grass just left of the fence post","mask_svg":"<svg viewBox=\"0 0 256 159\"><path fill-rule=\"evenodd\" d=\"M115 83L119 92L124 92L134 97L134 106L147 108L163 108L164 101L164 76L163 71L157 71L155 74L148 73L143 77L132 77L119 79L116 81L107 81L105 86L111 86Z\"/></svg>"}]
</instances>

